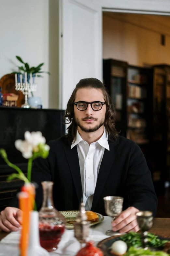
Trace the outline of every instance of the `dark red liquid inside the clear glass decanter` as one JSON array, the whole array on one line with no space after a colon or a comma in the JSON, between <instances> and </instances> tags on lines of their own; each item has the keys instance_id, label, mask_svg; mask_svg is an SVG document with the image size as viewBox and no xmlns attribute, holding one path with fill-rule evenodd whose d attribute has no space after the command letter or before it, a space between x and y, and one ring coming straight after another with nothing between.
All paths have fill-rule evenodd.
<instances>
[{"instance_id":1,"label":"dark red liquid inside the clear glass decanter","mask_svg":"<svg viewBox=\"0 0 170 256\"><path fill-rule=\"evenodd\" d=\"M56 250L64 230L65 226L63 225L50 226L39 224L40 245L47 251Z\"/></svg>"}]
</instances>

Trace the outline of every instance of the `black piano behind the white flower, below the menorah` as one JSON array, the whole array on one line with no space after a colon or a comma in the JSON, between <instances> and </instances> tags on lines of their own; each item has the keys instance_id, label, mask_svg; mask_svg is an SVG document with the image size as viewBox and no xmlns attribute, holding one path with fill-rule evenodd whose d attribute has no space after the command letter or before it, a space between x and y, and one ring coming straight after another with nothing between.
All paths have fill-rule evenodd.
<instances>
[{"instance_id":1,"label":"black piano behind the white flower, below the menorah","mask_svg":"<svg viewBox=\"0 0 170 256\"><path fill-rule=\"evenodd\" d=\"M23 109L0 107L0 148L7 151L8 160L15 163L26 174L27 159L15 148L17 139L24 140L25 131L41 131L46 142L65 134L64 110ZM9 174L15 172L0 156L0 211L9 203L23 182L7 182Z\"/></svg>"}]
</instances>

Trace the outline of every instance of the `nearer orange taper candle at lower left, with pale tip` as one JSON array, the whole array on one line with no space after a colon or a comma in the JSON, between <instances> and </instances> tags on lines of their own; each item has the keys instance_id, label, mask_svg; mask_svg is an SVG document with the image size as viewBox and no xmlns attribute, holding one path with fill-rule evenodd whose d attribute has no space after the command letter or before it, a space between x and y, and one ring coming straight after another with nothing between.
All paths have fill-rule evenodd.
<instances>
[{"instance_id":1,"label":"nearer orange taper candle at lower left, with pale tip","mask_svg":"<svg viewBox=\"0 0 170 256\"><path fill-rule=\"evenodd\" d=\"M28 235L29 235L29 219L30 219L30 211L29 211L29 194L27 192L19 193L19 206L22 214L22 229L21 229L21 240L20 240L20 252L21 256L27 256L27 248L28 248Z\"/></svg>"}]
</instances>

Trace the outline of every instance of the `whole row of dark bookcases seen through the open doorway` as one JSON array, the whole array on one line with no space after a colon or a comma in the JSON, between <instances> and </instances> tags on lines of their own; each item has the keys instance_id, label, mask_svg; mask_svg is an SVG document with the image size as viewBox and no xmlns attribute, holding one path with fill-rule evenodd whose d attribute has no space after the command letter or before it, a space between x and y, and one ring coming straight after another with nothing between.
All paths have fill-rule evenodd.
<instances>
[{"instance_id":1,"label":"whole row of dark bookcases seen through the open doorway","mask_svg":"<svg viewBox=\"0 0 170 256\"><path fill-rule=\"evenodd\" d=\"M116 111L120 135L145 155L157 194L170 180L170 66L151 68L103 60L104 84Z\"/></svg>"}]
</instances>

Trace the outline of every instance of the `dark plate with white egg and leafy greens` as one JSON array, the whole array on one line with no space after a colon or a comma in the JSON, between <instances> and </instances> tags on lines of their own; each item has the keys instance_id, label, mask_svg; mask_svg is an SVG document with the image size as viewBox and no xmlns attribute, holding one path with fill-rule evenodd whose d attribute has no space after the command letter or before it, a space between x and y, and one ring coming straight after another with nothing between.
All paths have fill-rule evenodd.
<instances>
[{"instance_id":1,"label":"dark plate with white egg and leafy greens","mask_svg":"<svg viewBox=\"0 0 170 256\"><path fill-rule=\"evenodd\" d=\"M149 247L148 249L142 248L141 234L136 232L130 232L119 236L111 236L100 241L97 244L97 247L103 251L104 256L169 256L169 237L161 237L148 232L147 238L147 246Z\"/></svg>"}]
</instances>

